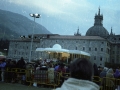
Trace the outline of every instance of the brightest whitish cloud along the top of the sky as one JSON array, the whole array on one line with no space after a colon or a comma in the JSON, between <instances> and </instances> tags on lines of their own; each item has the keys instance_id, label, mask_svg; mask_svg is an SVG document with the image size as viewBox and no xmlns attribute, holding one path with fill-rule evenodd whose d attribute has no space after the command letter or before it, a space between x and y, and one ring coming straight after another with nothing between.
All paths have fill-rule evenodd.
<instances>
[{"instance_id":1,"label":"brightest whitish cloud along the top of the sky","mask_svg":"<svg viewBox=\"0 0 120 90\"><path fill-rule=\"evenodd\" d=\"M9 0L9 2L31 9L36 8L48 16L57 16L57 18L71 21L78 20L78 13L83 14L91 7L86 0Z\"/></svg>"}]
</instances>

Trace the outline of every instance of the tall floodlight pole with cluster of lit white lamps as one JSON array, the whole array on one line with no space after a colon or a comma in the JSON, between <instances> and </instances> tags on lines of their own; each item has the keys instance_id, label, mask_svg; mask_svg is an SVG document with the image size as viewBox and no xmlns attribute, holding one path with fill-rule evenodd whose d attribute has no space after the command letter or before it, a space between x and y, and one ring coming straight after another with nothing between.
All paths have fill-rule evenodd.
<instances>
[{"instance_id":1,"label":"tall floodlight pole with cluster of lit white lamps","mask_svg":"<svg viewBox=\"0 0 120 90\"><path fill-rule=\"evenodd\" d=\"M30 46L30 56L29 56L29 62L31 61L31 51L32 51L32 44L33 44L33 38L34 38L34 27L35 27L35 18L40 18L40 14L30 14L31 17L34 18L34 26L33 26L33 33L32 33L32 39L31 39L31 46Z\"/></svg>"}]
</instances>

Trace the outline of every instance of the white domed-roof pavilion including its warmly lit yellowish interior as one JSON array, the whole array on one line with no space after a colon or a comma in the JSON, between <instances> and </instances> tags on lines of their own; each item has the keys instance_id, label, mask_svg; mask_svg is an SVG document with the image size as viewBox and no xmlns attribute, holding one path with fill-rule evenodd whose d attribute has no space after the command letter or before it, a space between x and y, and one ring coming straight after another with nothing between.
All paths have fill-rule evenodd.
<instances>
[{"instance_id":1,"label":"white domed-roof pavilion including its warmly lit yellowish interior","mask_svg":"<svg viewBox=\"0 0 120 90\"><path fill-rule=\"evenodd\" d=\"M41 52L48 52L49 53L49 58L52 55L54 58L57 58L56 56L54 56L53 53L61 53L60 56L58 57L65 57L67 58L67 63L68 63L68 58L70 57L70 54L72 54L71 58L76 58L76 54L77 57L90 57L90 54L84 51L80 51L80 50L68 50L68 49L62 49L61 45L59 44L55 44L53 45L52 48L37 48L36 51L41 51ZM50 53L52 52L52 53ZM51 54L51 55L50 55Z\"/></svg>"}]
</instances>

